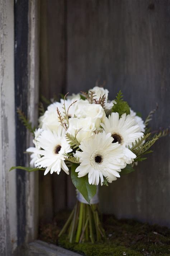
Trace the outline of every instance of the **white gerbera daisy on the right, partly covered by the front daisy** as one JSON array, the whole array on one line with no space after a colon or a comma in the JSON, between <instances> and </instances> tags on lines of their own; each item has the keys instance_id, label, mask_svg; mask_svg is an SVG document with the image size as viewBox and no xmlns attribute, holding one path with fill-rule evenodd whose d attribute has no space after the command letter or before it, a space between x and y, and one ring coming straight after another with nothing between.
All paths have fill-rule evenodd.
<instances>
[{"instance_id":1,"label":"white gerbera daisy on the right, partly covered by the front daisy","mask_svg":"<svg viewBox=\"0 0 170 256\"><path fill-rule=\"evenodd\" d=\"M141 128L136 124L134 118L130 115L126 115L126 113L119 118L117 112L112 112L108 118L105 118L104 123L101 123L101 127L103 127L105 132L111 133L111 136L114 138L113 143L118 142L124 147L126 163L132 163L136 155L128 149L128 146L132 147L132 142L135 142L135 140L143 136Z\"/></svg>"}]
</instances>

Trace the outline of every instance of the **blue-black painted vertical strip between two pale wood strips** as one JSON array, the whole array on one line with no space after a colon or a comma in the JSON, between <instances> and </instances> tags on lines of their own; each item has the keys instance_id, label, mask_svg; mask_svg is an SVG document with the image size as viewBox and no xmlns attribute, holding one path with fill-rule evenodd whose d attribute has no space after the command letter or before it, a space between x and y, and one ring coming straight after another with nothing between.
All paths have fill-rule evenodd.
<instances>
[{"instance_id":1,"label":"blue-black painted vertical strip between two pale wood strips","mask_svg":"<svg viewBox=\"0 0 170 256\"><path fill-rule=\"evenodd\" d=\"M19 108L27 115L28 91L28 1L17 1L15 10L15 111ZM27 131L16 113L16 165L24 166L26 163ZM25 242L26 236L26 191L27 173L16 171L17 188L17 234L18 245Z\"/></svg>"}]
</instances>

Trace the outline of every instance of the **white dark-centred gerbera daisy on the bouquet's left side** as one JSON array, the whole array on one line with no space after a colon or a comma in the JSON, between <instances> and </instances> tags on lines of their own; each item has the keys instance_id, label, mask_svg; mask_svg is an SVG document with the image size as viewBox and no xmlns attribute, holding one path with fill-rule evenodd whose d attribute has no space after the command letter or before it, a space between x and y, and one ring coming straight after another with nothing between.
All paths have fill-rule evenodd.
<instances>
[{"instance_id":1,"label":"white dark-centred gerbera daisy on the bouquet's left side","mask_svg":"<svg viewBox=\"0 0 170 256\"><path fill-rule=\"evenodd\" d=\"M42 157L39 158L35 165L39 168L46 168L44 175L49 171L60 173L61 168L69 174L69 168L65 164L67 158L64 153L72 151L69 143L65 139L65 129L59 126L57 131L45 130L37 138L38 145L41 147L37 153Z\"/></svg>"}]
</instances>

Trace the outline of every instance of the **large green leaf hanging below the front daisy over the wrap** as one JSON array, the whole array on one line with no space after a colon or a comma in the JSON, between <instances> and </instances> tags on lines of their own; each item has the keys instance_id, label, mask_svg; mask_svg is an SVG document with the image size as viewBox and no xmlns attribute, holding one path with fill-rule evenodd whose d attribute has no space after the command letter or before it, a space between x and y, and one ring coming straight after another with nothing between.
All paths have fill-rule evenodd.
<instances>
[{"instance_id":1,"label":"large green leaf hanging below the front daisy over the wrap","mask_svg":"<svg viewBox=\"0 0 170 256\"><path fill-rule=\"evenodd\" d=\"M88 175L78 178L77 172L75 172L76 168L79 164L72 164L71 167L71 179L72 183L79 190L82 196L86 199L86 201L90 204L91 198L96 194L96 185L90 185L88 180Z\"/></svg>"}]
</instances>

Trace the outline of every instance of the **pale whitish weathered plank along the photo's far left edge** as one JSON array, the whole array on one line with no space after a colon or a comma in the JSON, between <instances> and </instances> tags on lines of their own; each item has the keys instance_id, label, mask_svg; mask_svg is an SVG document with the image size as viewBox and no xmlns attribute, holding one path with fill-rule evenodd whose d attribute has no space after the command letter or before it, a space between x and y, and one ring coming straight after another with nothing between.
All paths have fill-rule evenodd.
<instances>
[{"instance_id":1,"label":"pale whitish weathered plank along the photo's far left edge","mask_svg":"<svg viewBox=\"0 0 170 256\"><path fill-rule=\"evenodd\" d=\"M14 3L0 4L0 255L17 244L14 85ZM12 243L11 243L12 241Z\"/></svg>"}]
</instances>

